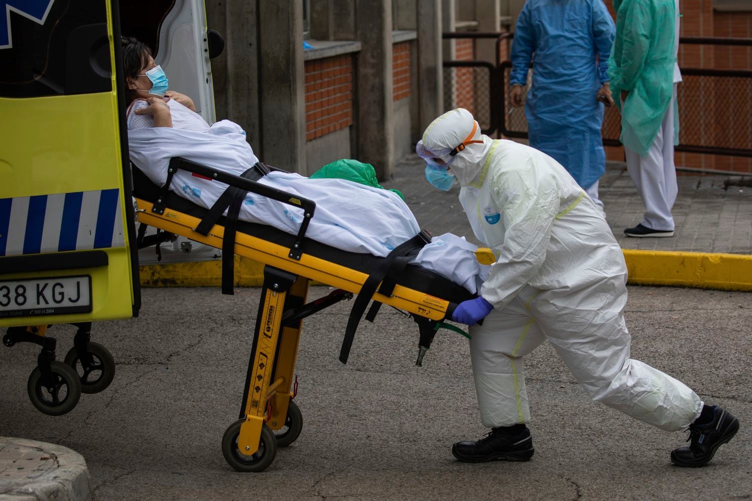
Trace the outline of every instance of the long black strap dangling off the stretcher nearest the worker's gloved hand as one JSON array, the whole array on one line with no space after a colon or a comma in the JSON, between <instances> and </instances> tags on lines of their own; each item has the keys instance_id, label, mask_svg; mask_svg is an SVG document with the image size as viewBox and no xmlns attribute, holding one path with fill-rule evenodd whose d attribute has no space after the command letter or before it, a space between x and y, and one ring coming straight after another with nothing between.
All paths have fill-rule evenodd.
<instances>
[{"instance_id":1,"label":"long black strap dangling off the stretcher nearest the worker's gloved hand","mask_svg":"<svg viewBox=\"0 0 752 501\"><path fill-rule=\"evenodd\" d=\"M344 330L344 340L342 340L342 348L339 352L339 360L343 364L347 364L347 358L350 356L350 348L353 346L353 339L355 338L355 331L360 323L360 318L365 311L365 306L368 306L368 301L371 300L371 297L373 297L376 292L378 285L384 280L387 273L390 272L393 264L398 258L405 258L405 256L412 251L423 248L423 246L430 241L431 237L429 234L426 233L426 231L421 231L410 240L397 246L374 268L374 270L371 271L368 278L365 279L365 282L358 292L358 297L353 301L353 309L350 310L350 318L347 319L347 327ZM408 258L407 261L410 261L410 258ZM400 264L403 269L405 264L407 264L407 261L405 261L404 264Z\"/></svg>"}]
</instances>

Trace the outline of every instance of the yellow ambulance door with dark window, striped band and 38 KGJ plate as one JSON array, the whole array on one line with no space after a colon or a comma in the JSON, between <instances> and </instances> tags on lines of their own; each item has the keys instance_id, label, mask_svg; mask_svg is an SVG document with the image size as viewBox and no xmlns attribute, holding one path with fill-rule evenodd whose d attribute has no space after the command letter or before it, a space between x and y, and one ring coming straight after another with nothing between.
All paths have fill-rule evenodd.
<instances>
[{"instance_id":1,"label":"yellow ambulance door with dark window, striped band and 38 KGJ plate","mask_svg":"<svg viewBox=\"0 0 752 501\"><path fill-rule=\"evenodd\" d=\"M116 0L0 13L0 327L138 314Z\"/></svg>"}]
</instances>

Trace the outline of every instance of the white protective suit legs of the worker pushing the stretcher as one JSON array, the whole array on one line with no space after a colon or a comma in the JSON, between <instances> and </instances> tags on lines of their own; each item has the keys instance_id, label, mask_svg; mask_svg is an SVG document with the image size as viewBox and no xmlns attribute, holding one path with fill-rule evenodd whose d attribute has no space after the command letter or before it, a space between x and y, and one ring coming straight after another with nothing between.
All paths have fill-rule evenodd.
<instances>
[{"instance_id":1,"label":"white protective suit legs of the worker pushing the stretcher","mask_svg":"<svg viewBox=\"0 0 752 501\"><path fill-rule=\"evenodd\" d=\"M483 325L470 327L470 353L481 421L487 427L528 423L523 358L549 340L593 400L663 430L682 430L702 411L686 385L629 358L624 277L579 291L527 286Z\"/></svg>"}]
</instances>

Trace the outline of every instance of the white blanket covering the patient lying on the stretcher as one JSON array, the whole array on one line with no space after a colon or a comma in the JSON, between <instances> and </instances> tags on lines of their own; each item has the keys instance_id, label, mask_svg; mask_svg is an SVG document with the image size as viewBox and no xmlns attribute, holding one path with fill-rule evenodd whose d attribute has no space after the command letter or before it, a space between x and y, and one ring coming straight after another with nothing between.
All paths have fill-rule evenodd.
<instances>
[{"instance_id":1,"label":"white blanket covering the patient lying on the stretcher","mask_svg":"<svg viewBox=\"0 0 752 501\"><path fill-rule=\"evenodd\" d=\"M175 128L139 128L128 132L132 161L153 183L164 185L170 158L180 156L229 174L240 175L258 161L239 125L223 120L208 132ZM272 172L266 186L316 202L306 237L349 252L385 256L420 231L407 204L385 189L339 179L308 179ZM177 171L170 188L194 204L211 207L227 185ZM241 206L243 221L271 225L297 234L302 209L249 193ZM488 267L475 259L476 247L452 234L436 237L412 262L447 277L475 293Z\"/></svg>"}]
</instances>

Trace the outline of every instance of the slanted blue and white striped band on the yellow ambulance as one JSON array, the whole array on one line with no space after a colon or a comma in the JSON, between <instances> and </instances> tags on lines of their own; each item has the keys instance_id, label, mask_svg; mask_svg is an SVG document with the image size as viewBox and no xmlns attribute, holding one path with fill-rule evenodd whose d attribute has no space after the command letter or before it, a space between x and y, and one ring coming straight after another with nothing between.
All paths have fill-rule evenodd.
<instances>
[{"instance_id":1,"label":"slanted blue and white striped band on the yellow ambulance","mask_svg":"<svg viewBox=\"0 0 752 501\"><path fill-rule=\"evenodd\" d=\"M0 256L122 246L117 188L0 198Z\"/></svg>"}]
</instances>

